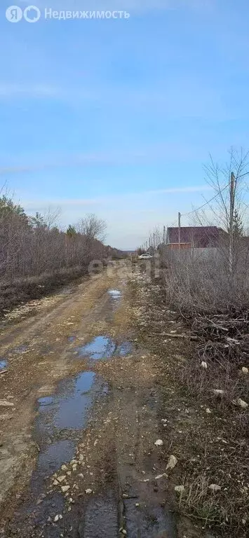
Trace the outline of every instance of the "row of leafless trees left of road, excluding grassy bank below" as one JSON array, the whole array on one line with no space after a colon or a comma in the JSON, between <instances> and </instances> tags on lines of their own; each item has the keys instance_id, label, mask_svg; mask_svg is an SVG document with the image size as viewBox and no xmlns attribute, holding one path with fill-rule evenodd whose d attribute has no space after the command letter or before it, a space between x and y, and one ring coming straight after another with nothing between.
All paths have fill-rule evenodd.
<instances>
[{"instance_id":1,"label":"row of leafless trees left of road, excluding grassy bank below","mask_svg":"<svg viewBox=\"0 0 249 538\"><path fill-rule=\"evenodd\" d=\"M119 251L105 246L105 222L93 214L67 232L53 225L54 216L29 217L11 198L0 198L1 279L41 275L80 265L87 268L93 259L119 257Z\"/></svg>"}]
</instances>

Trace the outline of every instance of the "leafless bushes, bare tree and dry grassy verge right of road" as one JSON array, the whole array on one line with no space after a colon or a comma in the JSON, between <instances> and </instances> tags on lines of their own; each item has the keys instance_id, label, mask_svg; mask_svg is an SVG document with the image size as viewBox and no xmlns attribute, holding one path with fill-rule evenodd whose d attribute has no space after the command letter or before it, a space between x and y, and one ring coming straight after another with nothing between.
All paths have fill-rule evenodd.
<instances>
[{"instance_id":1,"label":"leafless bushes, bare tree and dry grassy verge right of road","mask_svg":"<svg viewBox=\"0 0 249 538\"><path fill-rule=\"evenodd\" d=\"M194 214L194 220L198 226L211 222L222 228L220 244L213 252L181 251L168 249L161 239L160 275L142 284L140 332L161 358L161 418L166 420L162 439L166 459L173 453L178 460L180 513L214 536L245 538L249 525L249 238L244 232L248 156L231 151L227 167L212 161L206 172L215 200L208 202L206 214Z\"/></svg>"}]
</instances>

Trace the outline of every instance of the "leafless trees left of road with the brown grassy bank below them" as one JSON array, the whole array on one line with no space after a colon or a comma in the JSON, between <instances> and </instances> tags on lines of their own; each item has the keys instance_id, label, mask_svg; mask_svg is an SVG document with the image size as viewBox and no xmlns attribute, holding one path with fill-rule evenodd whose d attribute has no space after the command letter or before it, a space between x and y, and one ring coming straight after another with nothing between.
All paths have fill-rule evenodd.
<instances>
[{"instance_id":1,"label":"leafless trees left of road with the brown grassy bank below them","mask_svg":"<svg viewBox=\"0 0 249 538\"><path fill-rule=\"evenodd\" d=\"M6 194L0 196L0 315L15 305L49 294L105 264L121 251L105 246L106 223L88 214L63 231L59 212L28 216Z\"/></svg>"}]
</instances>

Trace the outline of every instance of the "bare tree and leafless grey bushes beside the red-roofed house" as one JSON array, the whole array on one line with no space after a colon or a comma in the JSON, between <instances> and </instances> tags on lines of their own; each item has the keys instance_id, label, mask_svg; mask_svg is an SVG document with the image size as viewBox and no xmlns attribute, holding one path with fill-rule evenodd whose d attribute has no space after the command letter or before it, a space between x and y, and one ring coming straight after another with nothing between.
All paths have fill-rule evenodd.
<instances>
[{"instance_id":1,"label":"bare tree and leafless grey bushes beside the red-roofed house","mask_svg":"<svg viewBox=\"0 0 249 538\"><path fill-rule=\"evenodd\" d=\"M248 170L248 153L242 150L231 149L224 167L211 158L206 175L214 195L192 212L192 225L217 226L215 234L206 230L210 247L163 249L168 299L182 312L248 308L249 242L243 235Z\"/></svg>"}]
</instances>

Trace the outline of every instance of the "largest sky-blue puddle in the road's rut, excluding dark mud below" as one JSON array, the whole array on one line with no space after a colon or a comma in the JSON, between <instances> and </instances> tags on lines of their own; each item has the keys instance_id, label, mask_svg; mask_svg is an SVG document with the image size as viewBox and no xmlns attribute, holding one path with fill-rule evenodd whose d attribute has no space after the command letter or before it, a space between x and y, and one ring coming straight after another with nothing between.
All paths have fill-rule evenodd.
<instances>
[{"instance_id":1,"label":"largest sky-blue puddle in the road's rut, excluding dark mud below","mask_svg":"<svg viewBox=\"0 0 249 538\"><path fill-rule=\"evenodd\" d=\"M74 431L86 427L89 411L100 394L107 394L105 382L93 372L60 381L55 394L38 400L36 441L41 448L37 470L50 474L74 454Z\"/></svg>"}]
</instances>

